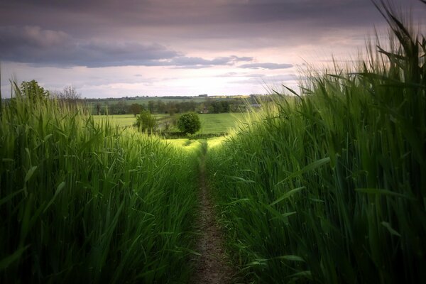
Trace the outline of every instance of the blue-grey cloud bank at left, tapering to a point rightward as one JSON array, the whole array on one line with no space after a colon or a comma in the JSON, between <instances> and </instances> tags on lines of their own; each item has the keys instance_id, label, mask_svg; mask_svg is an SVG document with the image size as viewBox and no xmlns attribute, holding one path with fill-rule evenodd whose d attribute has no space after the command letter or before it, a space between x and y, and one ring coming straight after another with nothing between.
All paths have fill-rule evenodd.
<instances>
[{"instance_id":1,"label":"blue-grey cloud bank at left, tapering to a point rightward","mask_svg":"<svg viewBox=\"0 0 426 284\"><path fill-rule=\"evenodd\" d=\"M55 67L172 66L205 68L249 62L251 57L188 57L158 43L79 40L38 26L0 27L1 60Z\"/></svg>"}]
</instances>

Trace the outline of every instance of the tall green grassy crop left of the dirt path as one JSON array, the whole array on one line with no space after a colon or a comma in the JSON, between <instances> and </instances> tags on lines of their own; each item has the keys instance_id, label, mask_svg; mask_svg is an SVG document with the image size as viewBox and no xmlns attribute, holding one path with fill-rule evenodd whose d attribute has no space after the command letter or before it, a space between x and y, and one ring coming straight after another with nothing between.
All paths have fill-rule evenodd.
<instances>
[{"instance_id":1,"label":"tall green grassy crop left of the dirt path","mask_svg":"<svg viewBox=\"0 0 426 284\"><path fill-rule=\"evenodd\" d=\"M26 97L0 117L0 283L185 283L197 151Z\"/></svg>"}]
</instances>

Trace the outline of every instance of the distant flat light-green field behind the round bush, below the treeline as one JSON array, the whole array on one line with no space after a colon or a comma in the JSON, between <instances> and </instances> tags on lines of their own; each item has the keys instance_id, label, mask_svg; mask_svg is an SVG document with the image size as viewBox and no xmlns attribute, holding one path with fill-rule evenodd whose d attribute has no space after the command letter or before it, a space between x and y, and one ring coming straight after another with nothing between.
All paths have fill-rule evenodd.
<instances>
[{"instance_id":1,"label":"distant flat light-green field behind the round bush, below the treeline","mask_svg":"<svg viewBox=\"0 0 426 284\"><path fill-rule=\"evenodd\" d=\"M155 114L156 117L167 117L168 114ZM207 133L226 133L239 124L239 121L244 120L246 114L232 113L232 114L200 114L201 121L201 134ZM132 126L136 122L133 114L117 114L117 115L100 115L93 116L95 121L102 121L109 119L114 124L119 126ZM176 116L178 117L178 116Z\"/></svg>"}]
</instances>

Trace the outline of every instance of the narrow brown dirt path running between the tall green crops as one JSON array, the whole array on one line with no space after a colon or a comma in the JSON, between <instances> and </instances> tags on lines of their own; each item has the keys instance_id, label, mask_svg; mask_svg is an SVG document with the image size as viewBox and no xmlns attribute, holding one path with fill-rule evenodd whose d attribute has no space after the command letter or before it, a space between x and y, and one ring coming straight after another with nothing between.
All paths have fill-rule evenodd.
<instances>
[{"instance_id":1,"label":"narrow brown dirt path running between the tall green crops","mask_svg":"<svg viewBox=\"0 0 426 284\"><path fill-rule=\"evenodd\" d=\"M222 232L214 217L212 195L207 187L205 175L206 149L200 162L200 212L198 225L200 226L200 239L197 243L197 251L201 256L197 258L197 267L193 275L192 283L231 283L234 271L224 251Z\"/></svg>"}]
</instances>

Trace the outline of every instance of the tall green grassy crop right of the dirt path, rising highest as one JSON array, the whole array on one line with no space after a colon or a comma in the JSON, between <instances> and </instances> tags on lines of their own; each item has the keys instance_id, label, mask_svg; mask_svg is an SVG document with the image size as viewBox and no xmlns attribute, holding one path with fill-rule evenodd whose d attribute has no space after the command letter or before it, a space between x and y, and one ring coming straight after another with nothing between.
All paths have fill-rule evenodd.
<instances>
[{"instance_id":1,"label":"tall green grassy crop right of the dirt path, rising highest","mask_svg":"<svg viewBox=\"0 0 426 284\"><path fill-rule=\"evenodd\" d=\"M426 283L426 39L378 8L388 50L277 94L210 150L219 219L248 280Z\"/></svg>"}]
</instances>

